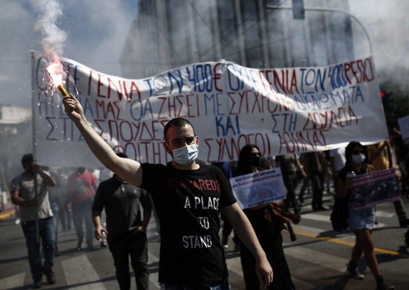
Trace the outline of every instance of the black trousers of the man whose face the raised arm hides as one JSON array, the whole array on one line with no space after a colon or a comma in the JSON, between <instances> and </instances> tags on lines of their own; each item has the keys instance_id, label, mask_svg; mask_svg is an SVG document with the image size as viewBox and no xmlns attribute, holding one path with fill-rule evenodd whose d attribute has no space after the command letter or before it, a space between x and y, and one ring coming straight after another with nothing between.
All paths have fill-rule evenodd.
<instances>
[{"instance_id":1,"label":"black trousers of the man whose face the raised arm hides","mask_svg":"<svg viewBox=\"0 0 409 290\"><path fill-rule=\"evenodd\" d=\"M149 289L148 240L146 233L129 231L108 241L121 290L129 290L129 256L138 290Z\"/></svg>"}]
</instances>

